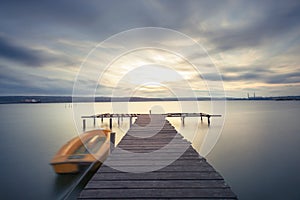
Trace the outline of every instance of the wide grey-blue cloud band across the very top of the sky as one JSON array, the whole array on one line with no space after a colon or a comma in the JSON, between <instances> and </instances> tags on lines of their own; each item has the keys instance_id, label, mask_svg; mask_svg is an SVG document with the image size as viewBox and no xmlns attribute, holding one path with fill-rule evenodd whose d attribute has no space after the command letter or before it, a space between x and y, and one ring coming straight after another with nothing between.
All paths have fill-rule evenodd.
<instances>
[{"instance_id":1,"label":"wide grey-blue cloud band across the very top of the sky","mask_svg":"<svg viewBox=\"0 0 300 200\"><path fill-rule=\"evenodd\" d=\"M3 30L22 37L33 34L40 39L50 35L101 41L131 28L158 26L195 37L204 35L217 45L215 51L224 51L258 46L299 27L299 8L297 1L6 1L0 16L11 23ZM222 18L231 15L253 19L241 21L242 26L220 28ZM199 24L211 18L216 20L208 26L217 28L200 30ZM40 36L39 31L47 33Z\"/></svg>"}]
</instances>

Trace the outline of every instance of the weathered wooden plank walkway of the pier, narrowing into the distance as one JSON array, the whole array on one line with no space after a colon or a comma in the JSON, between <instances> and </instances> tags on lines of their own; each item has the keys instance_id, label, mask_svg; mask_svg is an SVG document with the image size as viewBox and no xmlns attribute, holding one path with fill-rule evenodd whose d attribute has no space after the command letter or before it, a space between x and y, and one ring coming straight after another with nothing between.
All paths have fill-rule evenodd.
<instances>
[{"instance_id":1,"label":"weathered wooden plank walkway of the pier, narrowing into the distance","mask_svg":"<svg viewBox=\"0 0 300 200\"><path fill-rule=\"evenodd\" d=\"M165 119L138 115L79 199L237 199Z\"/></svg>"}]
</instances>

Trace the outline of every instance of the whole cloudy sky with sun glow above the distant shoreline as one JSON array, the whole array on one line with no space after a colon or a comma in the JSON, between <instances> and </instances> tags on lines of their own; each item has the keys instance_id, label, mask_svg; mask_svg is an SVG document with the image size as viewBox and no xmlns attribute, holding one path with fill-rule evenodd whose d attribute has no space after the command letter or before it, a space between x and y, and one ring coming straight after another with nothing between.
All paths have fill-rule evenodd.
<instances>
[{"instance_id":1,"label":"whole cloudy sky with sun glow above the distant shoreline","mask_svg":"<svg viewBox=\"0 0 300 200\"><path fill-rule=\"evenodd\" d=\"M297 0L0 6L1 96L300 95L299 55Z\"/></svg>"}]
</instances>

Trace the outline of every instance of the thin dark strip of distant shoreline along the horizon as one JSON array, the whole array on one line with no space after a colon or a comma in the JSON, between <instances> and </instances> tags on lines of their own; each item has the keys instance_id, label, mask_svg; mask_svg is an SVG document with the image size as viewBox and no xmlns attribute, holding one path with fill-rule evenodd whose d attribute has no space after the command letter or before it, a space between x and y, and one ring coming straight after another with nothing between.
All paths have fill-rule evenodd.
<instances>
[{"instance_id":1,"label":"thin dark strip of distant shoreline along the horizon","mask_svg":"<svg viewBox=\"0 0 300 200\"><path fill-rule=\"evenodd\" d=\"M149 102L149 101L299 101L300 96L277 96L255 98L144 98L144 97L76 97L72 96L0 96L0 104L38 104L38 103L93 103L93 102Z\"/></svg>"}]
</instances>

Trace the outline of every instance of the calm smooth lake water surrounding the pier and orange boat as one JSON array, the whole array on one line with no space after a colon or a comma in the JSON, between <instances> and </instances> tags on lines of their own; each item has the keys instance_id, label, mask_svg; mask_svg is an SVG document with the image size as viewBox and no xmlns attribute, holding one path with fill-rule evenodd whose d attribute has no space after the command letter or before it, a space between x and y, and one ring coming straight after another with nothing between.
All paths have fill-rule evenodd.
<instances>
[{"instance_id":1,"label":"calm smooth lake water surrounding the pier and orange boat","mask_svg":"<svg viewBox=\"0 0 300 200\"><path fill-rule=\"evenodd\" d=\"M123 104L118 106L124 107ZM188 109L189 103L185 104L137 102L129 103L127 109L131 113L147 113L149 109L193 112ZM201 111L212 113L210 102L198 104ZM91 104L0 105L1 199L60 199L66 194L81 174L56 175L49 161L66 141L82 131L78 113L93 114L90 107ZM115 111L110 103L93 104L93 109L96 113ZM208 134L221 131L206 158L240 199L300 199L299 115L299 101L229 101L226 115L213 118L210 127L206 119L201 123L187 118L184 127L179 119L170 121L200 153L209 149L203 150ZM92 120L87 121L87 126L94 128ZM108 126L107 121L102 126ZM114 122L117 141L127 129L128 120L124 119L120 127Z\"/></svg>"}]
</instances>

